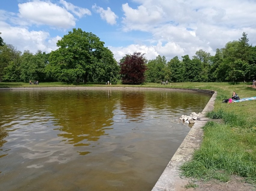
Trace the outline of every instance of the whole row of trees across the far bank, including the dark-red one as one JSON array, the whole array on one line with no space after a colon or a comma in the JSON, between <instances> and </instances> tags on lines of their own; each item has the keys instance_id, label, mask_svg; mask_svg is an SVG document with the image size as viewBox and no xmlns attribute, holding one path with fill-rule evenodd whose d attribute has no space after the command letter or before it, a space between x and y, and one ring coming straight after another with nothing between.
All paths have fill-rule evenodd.
<instances>
[{"instance_id":1,"label":"whole row of trees across the far bank, including the dark-red one","mask_svg":"<svg viewBox=\"0 0 256 191\"><path fill-rule=\"evenodd\" d=\"M81 28L73 28L56 45L50 53L22 53L0 37L0 82L248 82L256 72L256 46L245 32L215 55L200 49L192 59L175 56L168 62L161 55L147 60L140 52L117 62L99 37Z\"/></svg>"}]
</instances>

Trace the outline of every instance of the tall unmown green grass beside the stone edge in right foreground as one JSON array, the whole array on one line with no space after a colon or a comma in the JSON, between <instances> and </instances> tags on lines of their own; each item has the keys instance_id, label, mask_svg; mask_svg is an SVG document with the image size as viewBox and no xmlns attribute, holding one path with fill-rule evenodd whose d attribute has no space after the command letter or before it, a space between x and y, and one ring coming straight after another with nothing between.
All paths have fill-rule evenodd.
<instances>
[{"instance_id":1,"label":"tall unmown green grass beside the stone edge in right foreground","mask_svg":"<svg viewBox=\"0 0 256 191\"><path fill-rule=\"evenodd\" d=\"M245 177L256 184L256 127L245 115L234 111L208 112L207 117L222 119L224 123L209 121L203 127L204 138L193 160L181 166L185 177L208 181L229 181L231 175Z\"/></svg>"}]
</instances>

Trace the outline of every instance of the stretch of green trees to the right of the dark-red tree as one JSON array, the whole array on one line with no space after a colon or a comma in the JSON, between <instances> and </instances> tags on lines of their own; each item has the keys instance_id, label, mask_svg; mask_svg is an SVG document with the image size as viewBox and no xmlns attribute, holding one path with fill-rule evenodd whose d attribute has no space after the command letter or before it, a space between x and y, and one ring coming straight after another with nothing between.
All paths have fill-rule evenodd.
<instances>
[{"instance_id":1,"label":"stretch of green trees to the right of the dark-red tree","mask_svg":"<svg viewBox=\"0 0 256 191\"><path fill-rule=\"evenodd\" d=\"M250 45L247 34L243 32L239 40L226 43L224 48L216 49L212 56L202 49L190 59L182 60L175 56L166 61L158 55L147 63L147 82L166 80L172 82L249 82L256 76L256 46Z\"/></svg>"}]
</instances>

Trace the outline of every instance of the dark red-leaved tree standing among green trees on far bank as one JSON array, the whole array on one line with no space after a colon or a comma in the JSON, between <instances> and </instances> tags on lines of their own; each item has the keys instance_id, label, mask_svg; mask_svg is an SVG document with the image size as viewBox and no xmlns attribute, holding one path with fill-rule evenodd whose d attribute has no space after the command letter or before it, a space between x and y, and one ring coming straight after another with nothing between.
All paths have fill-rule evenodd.
<instances>
[{"instance_id":1,"label":"dark red-leaved tree standing among green trees on far bank","mask_svg":"<svg viewBox=\"0 0 256 191\"><path fill-rule=\"evenodd\" d=\"M146 58L141 52L126 55L120 60L122 82L124 84L141 84L145 82Z\"/></svg>"}]
</instances>

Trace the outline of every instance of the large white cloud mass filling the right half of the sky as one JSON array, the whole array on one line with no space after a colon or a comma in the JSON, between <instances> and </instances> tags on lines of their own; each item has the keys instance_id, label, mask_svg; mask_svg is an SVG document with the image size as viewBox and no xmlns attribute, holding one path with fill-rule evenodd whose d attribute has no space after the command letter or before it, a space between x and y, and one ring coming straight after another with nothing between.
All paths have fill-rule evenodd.
<instances>
[{"instance_id":1,"label":"large white cloud mass filling the right half of the sky","mask_svg":"<svg viewBox=\"0 0 256 191\"><path fill-rule=\"evenodd\" d=\"M168 59L186 54L191 57L198 49L214 55L216 48L238 40L243 31L248 33L249 43L256 44L255 1L134 1L138 7L122 5L122 29L150 33L152 38L145 42L150 42L147 47L154 48L153 55L157 52Z\"/></svg>"}]
</instances>

